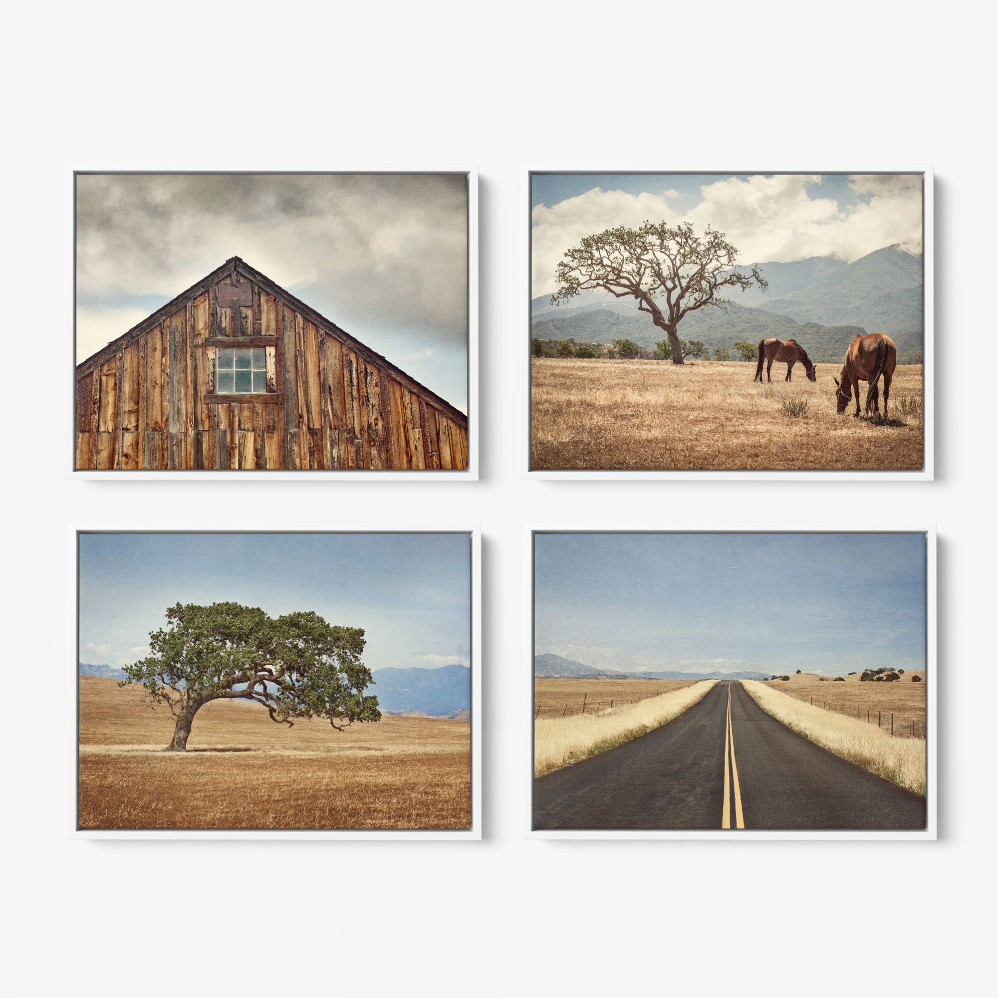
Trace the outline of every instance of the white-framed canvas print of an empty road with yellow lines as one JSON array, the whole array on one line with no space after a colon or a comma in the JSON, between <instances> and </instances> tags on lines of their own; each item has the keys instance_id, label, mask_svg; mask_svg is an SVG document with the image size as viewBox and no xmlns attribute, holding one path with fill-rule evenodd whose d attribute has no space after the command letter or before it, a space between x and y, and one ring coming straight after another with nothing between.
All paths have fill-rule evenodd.
<instances>
[{"instance_id":1,"label":"white-framed canvas print of an empty road with yellow lines","mask_svg":"<svg viewBox=\"0 0 998 998\"><path fill-rule=\"evenodd\" d=\"M526 562L528 837L935 838L932 528L536 527Z\"/></svg>"}]
</instances>

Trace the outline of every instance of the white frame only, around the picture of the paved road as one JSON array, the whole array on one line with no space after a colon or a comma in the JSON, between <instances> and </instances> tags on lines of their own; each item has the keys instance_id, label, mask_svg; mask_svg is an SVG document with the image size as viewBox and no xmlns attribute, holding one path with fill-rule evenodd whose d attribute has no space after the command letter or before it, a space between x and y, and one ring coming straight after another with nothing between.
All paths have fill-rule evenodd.
<instances>
[{"instance_id":1,"label":"white frame only, around the picture of the paved road","mask_svg":"<svg viewBox=\"0 0 998 998\"><path fill-rule=\"evenodd\" d=\"M924 534L925 535L925 731L926 731L926 796L925 796L925 827L910 830L895 829L739 829L724 830L673 830L673 829L537 829L534 827L534 537L539 533L600 533L600 534L720 534L720 533L751 533L751 534ZM824 840L824 839L860 839L881 841L934 841L937 837L937 748L938 734L936 727L936 528L934 524L907 524L889 526L867 526L857 529L855 524L795 524L791 528L766 524L731 523L727 525L697 525L690 524L675 529L663 529L658 526L635 525L627 528L608 526L606 524L528 524L524 529L524 648L529 652L529 662L524 663L525 697L524 697L524 785L526 815L524 836L532 839L663 839L685 840L702 839L708 841L749 841L759 839L775 840ZM529 665L529 668L527 668Z\"/></svg>"}]
</instances>

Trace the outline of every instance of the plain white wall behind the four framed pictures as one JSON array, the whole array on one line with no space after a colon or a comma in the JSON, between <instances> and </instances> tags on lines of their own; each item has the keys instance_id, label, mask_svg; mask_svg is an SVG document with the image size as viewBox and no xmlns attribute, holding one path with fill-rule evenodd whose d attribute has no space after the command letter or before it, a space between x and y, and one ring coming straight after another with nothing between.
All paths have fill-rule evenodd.
<instances>
[{"instance_id":1,"label":"plain white wall behind the four framed pictures","mask_svg":"<svg viewBox=\"0 0 998 998\"><path fill-rule=\"evenodd\" d=\"M993 14L959 3L211 6L20 5L5 23L10 993L967 990L993 941ZM224 124L233 109L262 123L238 144ZM64 164L248 160L478 163L480 483L64 479ZM935 483L520 480L520 164L615 160L934 165ZM198 526L211 510L239 525L274 510L335 527L397 519L403 506L415 521L483 526L483 842L68 839L68 523L127 527L169 511ZM938 524L940 841L524 840L524 521L756 516Z\"/></svg>"}]
</instances>

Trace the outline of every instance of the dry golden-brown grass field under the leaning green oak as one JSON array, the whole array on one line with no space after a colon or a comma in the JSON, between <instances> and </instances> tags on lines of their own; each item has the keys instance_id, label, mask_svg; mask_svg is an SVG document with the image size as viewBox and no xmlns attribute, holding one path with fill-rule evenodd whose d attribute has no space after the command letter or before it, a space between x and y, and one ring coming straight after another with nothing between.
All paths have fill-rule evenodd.
<instances>
[{"instance_id":1,"label":"dry golden-brown grass field under the leaning green oak","mask_svg":"<svg viewBox=\"0 0 998 998\"><path fill-rule=\"evenodd\" d=\"M187 752L142 689L80 677L81 828L467 828L471 726L384 717L334 732L216 701Z\"/></svg>"}]
</instances>

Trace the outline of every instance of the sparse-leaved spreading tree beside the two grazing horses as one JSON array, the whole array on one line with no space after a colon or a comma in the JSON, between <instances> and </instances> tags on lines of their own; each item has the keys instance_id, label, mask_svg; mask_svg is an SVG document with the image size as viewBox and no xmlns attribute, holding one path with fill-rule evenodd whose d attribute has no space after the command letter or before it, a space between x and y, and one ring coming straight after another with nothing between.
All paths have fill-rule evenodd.
<instances>
[{"instance_id":1,"label":"sparse-leaved spreading tree beside the two grazing horses","mask_svg":"<svg viewBox=\"0 0 998 998\"><path fill-rule=\"evenodd\" d=\"M603 290L618 298L638 299L640 311L664 329L674 364L683 363L676 333L684 315L700 308L728 310L726 287L747 290L754 281L768 286L757 266L749 273L733 269L738 250L724 233L710 226L703 235L689 222L671 227L646 222L640 229L620 226L586 236L558 263L558 290L552 304L561 304L580 291Z\"/></svg>"}]
</instances>

